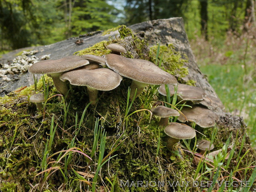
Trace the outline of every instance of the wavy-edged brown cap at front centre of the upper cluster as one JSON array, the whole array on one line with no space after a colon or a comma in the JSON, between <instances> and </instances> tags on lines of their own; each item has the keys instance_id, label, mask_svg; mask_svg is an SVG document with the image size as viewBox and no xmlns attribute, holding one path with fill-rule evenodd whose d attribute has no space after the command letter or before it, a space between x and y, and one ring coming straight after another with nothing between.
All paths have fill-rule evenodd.
<instances>
[{"instance_id":1,"label":"wavy-edged brown cap at front centre of the upper cluster","mask_svg":"<svg viewBox=\"0 0 256 192\"><path fill-rule=\"evenodd\" d=\"M123 78L116 72L107 69L77 69L63 73L60 80L68 80L70 84L87 86L100 91L115 89Z\"/></svg>"}]
</instances>

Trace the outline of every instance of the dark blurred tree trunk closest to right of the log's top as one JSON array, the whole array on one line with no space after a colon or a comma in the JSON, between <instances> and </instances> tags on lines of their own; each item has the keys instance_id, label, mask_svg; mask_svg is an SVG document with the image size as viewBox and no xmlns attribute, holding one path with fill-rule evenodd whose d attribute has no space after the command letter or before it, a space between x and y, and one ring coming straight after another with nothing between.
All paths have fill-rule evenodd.
<instances>
[{"instance_id":1,"label":"dark blurred tree trunk closest to right of the log's top","mask_svg":"<svg viewBox=\"0 0 256 192\"><path fill-rule=\"evenodd\" d=\"M201 32L202 32L202 35L204 35L204 38L206 40L208 40L208 26L207 26L207 22L208 22L208 11L207 11L208 2L207 2L207 0L201 0L200 5L201 5L201 8L200 8Z\"/></svg>"}]
</instances>

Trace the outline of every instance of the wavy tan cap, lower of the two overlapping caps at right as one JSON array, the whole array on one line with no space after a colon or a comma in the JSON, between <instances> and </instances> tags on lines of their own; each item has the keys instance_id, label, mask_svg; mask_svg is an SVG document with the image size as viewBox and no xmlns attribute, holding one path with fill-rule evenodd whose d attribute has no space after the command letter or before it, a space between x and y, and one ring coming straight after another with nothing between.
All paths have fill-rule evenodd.
<instances>
[{"instance_id":1,"label":"wavy tan cap, lower of the two overlapping caps at right","mask_svg":"<svg viewBox=\"0 0 256 192\"><path fill-rule=\"evenodd\" d=\"M188 121L193 121L203 128L212 127L215 125L215 121L219 120L216 113L199 105L193 105L192 108L184 107L181 112L187 117ZM178 120L182 123L186 121L184 116L179 116Z\"/></svg>"}]
</instances>

